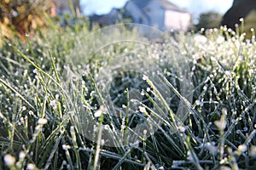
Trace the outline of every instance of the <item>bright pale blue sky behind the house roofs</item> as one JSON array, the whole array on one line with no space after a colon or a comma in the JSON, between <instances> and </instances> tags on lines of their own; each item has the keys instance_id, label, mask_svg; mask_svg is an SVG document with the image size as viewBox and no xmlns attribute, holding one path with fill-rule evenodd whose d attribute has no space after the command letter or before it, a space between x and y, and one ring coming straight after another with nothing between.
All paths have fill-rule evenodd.
<instances>
[{"instance_id":1,"label":"bright pale blue sky behind the house roofs","mask_svg":"<svg viewBox=\"0 0 256 170\"><path fill-rule=\"evenodd\" d=\"M127 0L80 0L84 14L107 14L111 8L122 8ZM224 14L233 0L169 0L181 8L187 9L195 19L199 14L214 10Z\"/></svg>"}]
</instances>

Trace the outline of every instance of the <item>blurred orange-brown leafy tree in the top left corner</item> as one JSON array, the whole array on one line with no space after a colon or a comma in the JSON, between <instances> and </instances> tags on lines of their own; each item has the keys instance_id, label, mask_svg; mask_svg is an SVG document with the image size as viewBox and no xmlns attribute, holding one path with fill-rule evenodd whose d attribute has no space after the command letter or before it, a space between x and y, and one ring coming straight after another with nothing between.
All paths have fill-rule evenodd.
<instances>
[{"instance_id":1,"label":"blurred orange-brown leafy tree in the top left corner","mask_svg":"<svg viewBox=\"0 0 256 170\"><path fill-rule=\"evenodd\" d=\"M50 14L53 5L51 0L1 0L0 41L14 35L25 38L25 33L46 26L44 13Z\"/></svg>"}]
</instances>

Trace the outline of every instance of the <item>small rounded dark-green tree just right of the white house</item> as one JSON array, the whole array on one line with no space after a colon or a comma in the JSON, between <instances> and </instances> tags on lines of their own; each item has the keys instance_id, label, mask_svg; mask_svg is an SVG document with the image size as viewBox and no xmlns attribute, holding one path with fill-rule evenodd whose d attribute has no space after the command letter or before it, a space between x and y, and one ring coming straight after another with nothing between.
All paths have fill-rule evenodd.
<instances>
[{"instance_id":1,"label":"small rounded dark-green tree just right of the white house","mask_svg":"<svg viewBox=\"0 0 256 170\"><path fill-rule=\"evenodd\" d=\"M214 11L209 11L200 14L199 22L195 26L196 31L200 31L201 28L218 28L221 25L222 15Z\"/></svg>"}]
</instances>

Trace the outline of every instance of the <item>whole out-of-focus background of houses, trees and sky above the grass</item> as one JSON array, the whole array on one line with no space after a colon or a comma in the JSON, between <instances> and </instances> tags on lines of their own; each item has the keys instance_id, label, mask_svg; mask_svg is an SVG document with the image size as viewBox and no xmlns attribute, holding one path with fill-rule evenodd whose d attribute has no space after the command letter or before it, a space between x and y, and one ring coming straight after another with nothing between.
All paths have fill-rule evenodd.
<instances>
[{"instance_id":1,"label":"whole out-of-focus background of houses, trees and sky above the grass","mask_svg":"<svg viewBox=\"0 0 256 170\"><path fill-rule=\"evenodd\" d=\"M244 20L240 20L243 18ZM108 26L134 22L161 31L200 31L227 26L250 34L256 26L255 0L1 0L0 34L32 34L50 24Z\"/></svg>"}]
</instances>

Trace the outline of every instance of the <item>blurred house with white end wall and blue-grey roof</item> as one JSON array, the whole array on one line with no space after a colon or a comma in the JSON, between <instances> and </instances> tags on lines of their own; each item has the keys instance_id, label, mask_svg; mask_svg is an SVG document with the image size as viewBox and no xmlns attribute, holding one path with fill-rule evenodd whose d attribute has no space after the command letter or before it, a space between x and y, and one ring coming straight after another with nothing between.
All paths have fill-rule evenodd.
<instances>
[{"instance_id":1,"label":"blurred house with white end wall and blue-grey roof","mask_svg":"<svg viewBox=\"0 0 256 170\"><path fill-rule=\"evenodd\" d=\"M168 0L129 0L123 12L114 12L113 9L107 15L110 18L129 16L133 23L154 26L160 31L188 31L191 26L191 14ZM109 23L104 20L105 25L113 24L113 20Z\"/></svg>"}]
</instances>

